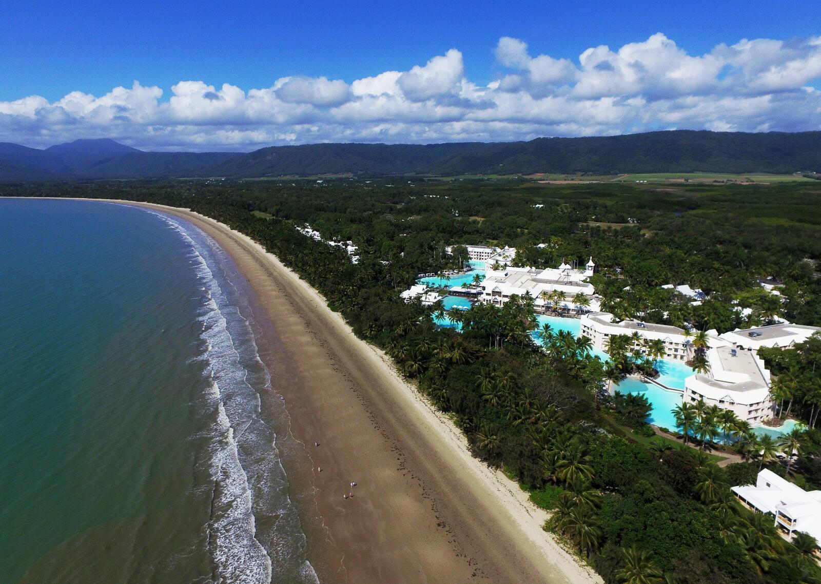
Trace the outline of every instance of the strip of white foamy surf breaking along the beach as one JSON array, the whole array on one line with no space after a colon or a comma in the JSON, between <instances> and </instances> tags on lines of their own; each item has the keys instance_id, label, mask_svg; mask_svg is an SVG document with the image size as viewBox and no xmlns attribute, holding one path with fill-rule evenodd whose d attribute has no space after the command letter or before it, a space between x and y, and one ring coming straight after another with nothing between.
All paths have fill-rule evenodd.
<instances>
[{"instance_id":1,"label":"strip of white foamy surf breaking along the beach","mask_svg":"<svg viewBox=\"0 0 821 584\"><path fill-rule=\"evenodd\" d=\"M305 560L305 535L287 495L276 435L259 416L261 398L254 386L269 388L270 375L259 359L249 322L214 275L220 269L214 256L221 250L177 219L154 214L190 243L204 289L200 320L204 378L209 381L204 398L214 412L209 461L214 487L207 529L215 580L319 582ZM255 513L271 519L266 522L271 527L257 531Z\"/></svg>"}]
</instances>

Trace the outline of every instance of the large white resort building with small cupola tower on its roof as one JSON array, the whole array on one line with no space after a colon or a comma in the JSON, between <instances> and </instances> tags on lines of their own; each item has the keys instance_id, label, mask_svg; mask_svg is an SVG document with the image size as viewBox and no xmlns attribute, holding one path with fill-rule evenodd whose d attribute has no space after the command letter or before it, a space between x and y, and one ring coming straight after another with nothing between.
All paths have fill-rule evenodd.
<instances>
[{"instance_id":1,"label":"large white resort building with small cupola tower on its roof","mask_svg":"<svg viewBox=\"0 0 821 584\"><path fill-rule=\"evenodd\" d=\"M585 269L573 269L569 264L562 264L558 268L538 270L534 268L503 268L492 269L488 260L488 270L482 283L482 293L479 300L502 306L514 295L525 296L530 294L534 298L536 310L544 311L552 306L551 301L542 297L543 292L562 292L564 299L560 306L567 310L599 310L601 298L596 296L593 284L587 278L593 275L595 264L588 262ZM589 299L589 306L575 306L573 297L579 292Z\"/></svg>"}]
</instances>

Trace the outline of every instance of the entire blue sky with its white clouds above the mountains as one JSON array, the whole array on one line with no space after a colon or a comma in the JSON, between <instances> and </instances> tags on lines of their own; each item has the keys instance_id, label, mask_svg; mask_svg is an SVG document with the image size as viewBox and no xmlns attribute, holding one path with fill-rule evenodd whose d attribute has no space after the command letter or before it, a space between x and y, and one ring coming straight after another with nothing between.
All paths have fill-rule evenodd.
<instances>
[{"instance_id":1,"label":"entire blue sky with its white clouds above the mountains","mask_svg":"<svg viewBox=\"0 0 821 584\"><path fill-rule=\"evenodd\" d=\"M13 2L0 20L0 140L48 145L77 134L105 134L146 148L253 149L323 140L515 140L672 127L819 129L812 119L819 97L807 93L821 87L815 64L821 45L814 40L821 35L818 8L815 2L772 1ZM613 61L620 48L659 33L666 40L647 47L643 54L649 57ZM526 44L525 53L507 43L500 57L502 38ZM742 39L760 42L734 48ZM594 51L596 60L585 71L580 55L603 45L610 53ZM660 70L647 74L657 46L670 52L660 65L667 71L677 70L676 52L721 67L682 70L673 76L681 80L674 87ZM447 55L447 62L424 69ZM355 87L356 80L414 67L420 76L406 76L399 89L388 87L391 80L377 93ZM603 79L593 79L594 67ZM621 71L620 79L607 67ZM772 67L782 67L790 80L786 73L778 83L773 75L754 78ZM793 75L796 67L800 74ZM640 71L643 80L631 80L631 71ZM732 83L722 83L727 77ZM298 84L281 90L294 78ZM432 79L436 87L421 89ZM135 80L142 89L135 91ZM180 87L181 81L200 85ZM221 93L223 84L238 88L242 98L231 90ZM594 85L599 89L590 89ZM177 99L187 100L185 112L170 107L181 97L175 86L185 94ZM118 87L130 93L99 101ZM253 90L270 95L252 100ZM72 92L94 99L67 103ZM516 95L520 99L511 97ZM767 107L762 99L756 107L754 100L764 95L770 96ZM687 114L692 106L686 98L704 99L709 116L699 122ZM731 106L728 99L741 101ZM25 105L14 105L21 100ZM649 111L648 103L658 113L640 115ZM722 116L722 108L738 111ZM801 122L799 115L809 119Z\"/></svg>"}]
</instances>

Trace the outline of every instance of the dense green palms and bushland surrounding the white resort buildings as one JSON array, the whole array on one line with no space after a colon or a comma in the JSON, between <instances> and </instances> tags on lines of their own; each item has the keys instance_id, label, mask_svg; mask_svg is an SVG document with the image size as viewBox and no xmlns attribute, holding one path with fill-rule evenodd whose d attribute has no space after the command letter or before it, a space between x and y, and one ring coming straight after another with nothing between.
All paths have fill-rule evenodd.
<instances>
[{"instance_id":1,"label":"dense green palms and bushland surrounding the white resort buildings","mask_svg":"<svg viewBox=\"0 0 821 584\"><path fill-rule=\"evenodd\" d=\"M724 469L689 446L660 440L648 446L621 430L621 424L643 425L646 404L602 392L607 368L589 356L585 339L542 331L548 351L538 347L528 299L475 306L459 315L463 333L455 333L433 325L432 309L398 297L415 274L453 261L443 252L446 244L498 242L539 265L594 255L596 287L625 315L720 330L781 313L818 324L818 191L122 182L8 186L2 193L189 207L255 238L323 292L360 337L384 347L452 415L477 457L505 467L537 503L553 508L548 527L589 558L605 582L821 582L810 559L813 542L787 543L772 518L741 508L729 491L764 463L791 477L801 471L801 481L817 484L817 430L800 434L799 461L787 468L770 456ZM589 224L629 219L638 223ZM788 228L779 223L785 221ZM325 237L355 241L360 264L296 232L305 222ZM548 246L534 247L540 242ZM779 306L756 292L756 278L770 275L784 282L787 301ZM703 287L711 300L694 308L658 288L668 282ZM750 316L736 306L751 308ZM785 359L806 370L800 352ZM782 365L789 370L790 363ZM813 408L796 402L793 412L809 421Z\"/></svg>"}]
</instances>

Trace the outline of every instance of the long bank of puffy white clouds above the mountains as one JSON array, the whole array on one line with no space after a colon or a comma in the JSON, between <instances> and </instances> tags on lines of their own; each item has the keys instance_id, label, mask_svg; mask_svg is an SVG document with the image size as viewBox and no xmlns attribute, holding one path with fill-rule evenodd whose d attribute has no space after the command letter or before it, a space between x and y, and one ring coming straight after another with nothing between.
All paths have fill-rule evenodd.
<instances>
[{"instance_id":1,"label":"long bank of puffy white clouds above the mountains","mask_svg":"<svg viewBox=\"0 0 821 584\"><path fill-rule=\"evenodd\" d=\"M181 81L170 94L134 82L99 97L71 92L0 102L0 141L44 147L112 137L143 149L250 150L315 142L530 140L637 131L821 130L821 37L741 40L687 54L664 34L576 62L533 56L521 39L493 49L498 78L471 82L456 48L410 71L346 83L283 77L242 90Z\"/></svg>"}]
</instances>

